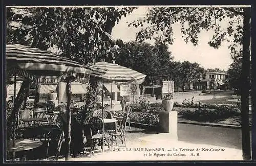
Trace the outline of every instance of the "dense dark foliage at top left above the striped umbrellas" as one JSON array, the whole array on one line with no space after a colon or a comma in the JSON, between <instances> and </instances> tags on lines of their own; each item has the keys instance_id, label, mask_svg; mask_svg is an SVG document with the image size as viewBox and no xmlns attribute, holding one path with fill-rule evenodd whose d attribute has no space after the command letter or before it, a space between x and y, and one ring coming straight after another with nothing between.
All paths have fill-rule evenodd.
<instances>
[{"instance_id":1,"label":"dense dark foliage at top left above the striped umbrellas","mask_svg":"<svg viewBox=\"0 0 256 166\"><path fill-rule=\"evenodd\" d=\"M112 28L135 8L7 8L7 43L54 48L84 64L111 56Z\"/></svg>"}]
</instances>

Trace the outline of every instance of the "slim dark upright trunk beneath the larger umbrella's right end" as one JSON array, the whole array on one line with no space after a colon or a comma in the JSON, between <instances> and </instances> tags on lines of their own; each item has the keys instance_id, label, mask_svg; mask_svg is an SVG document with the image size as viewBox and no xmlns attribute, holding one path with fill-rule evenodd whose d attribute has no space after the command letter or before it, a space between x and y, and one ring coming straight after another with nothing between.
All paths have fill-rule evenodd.
<instances>
[{"instance_id":1,"label":"slim dark upright trunk beneath the larger umbrella's right end","mask_svg":"<svg viewBox=\"0 0 256 166\"><path fill-rule=\"evenodd\" d=\"M67 91L67 122L68 122L68 127L67 127L67 135L66 135L66 143L67 143L67 151L66 151L66 157L65 160L68 161L70 157L70 143L71 143L71 111L70 111L70 101L71 101L71 78L67 78L67 86L66 86L66 91Z\"/></svg>"}]
</instances>

